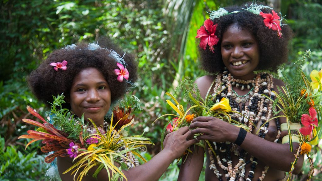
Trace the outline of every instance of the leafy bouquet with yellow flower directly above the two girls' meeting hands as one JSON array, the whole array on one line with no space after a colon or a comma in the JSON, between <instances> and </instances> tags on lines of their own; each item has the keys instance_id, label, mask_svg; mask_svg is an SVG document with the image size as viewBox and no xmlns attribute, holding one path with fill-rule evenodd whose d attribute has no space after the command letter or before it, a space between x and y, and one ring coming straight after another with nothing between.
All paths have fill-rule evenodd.
<instances>
[{"instance_id":1,"label":"leafy bouquet with yellow flower directly above the two girls' meeting hands","mask_svg":"<svg viewBox=\"0 0 322 181\"><path fill-rule=\"evenodd\" d=\"M213 82L214 83L214 82ZM184 81L182 81L182 84L178 87L180 90L183 91L184 97L188 100L189 105L191 105L187 110L183 108L183 106L175 99L175 97L170 94L169 92L166 92L168 96L174 101L174 103L171 100L166 100L166 102L171 106L173 110L177 114L164 114L157 118L156 120L165 117L165 116L173 116L175 117L174 119L168 121L166 123L166 126L163 128L162 134L161 134L161 147L163 148L163 140L164 140L164 135L166 131L172 132L175 131L181 127L184 126L189 126L191 121L198 116L212 116L215 118L222 119L226 122L229 122L232 125L235 125L237 127L243 128L250 132L249 128L243 124L241 124L239 121L236 121L231 118L232 113L236 114L241 114L237 111L232 111L232 108L229 105L229 100L226 98L223 98L221 101L217 103L213 103L213 100L211 100L211 97L213 95L209 95L209 92L211 90L211 87L213 84L210 86L206 99L204 100L199 92L199 89L197 88L197 85L190 80L189 78L185 78ZM220 94L221 90L219 90L216 94ZM216 96L216 95L215 95ZM215 97L214 96L214 97ZM199 101L200 100L200 101ZM191 114L189 114L191 112ZM248 118L246 118L248 119ZM252 121L248 119L251 123ZM196 137L198 135L194 135ZM213 154L216 156L215 151L213 150L213 147L211 146L210 142L208 140L204 140ZM205 147L204 143L199 142L195 144L197 146ZM187 149L184 153L184 155L191 153L192 151L190 149ZM178 161L181 159L180 157Z\"/></svg>"}]
</instances>

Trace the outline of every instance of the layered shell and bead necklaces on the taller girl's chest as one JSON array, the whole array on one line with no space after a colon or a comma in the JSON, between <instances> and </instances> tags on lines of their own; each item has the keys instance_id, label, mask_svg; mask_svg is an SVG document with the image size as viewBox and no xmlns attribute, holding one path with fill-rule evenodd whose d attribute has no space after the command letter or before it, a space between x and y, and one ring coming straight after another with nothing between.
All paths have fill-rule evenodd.
<instances>
[{"instance_id":1,"label":"layered shell and bead necklaces on the taller girl's chest","mask_svg":"<svg viewBox=\"0 0 322 181\"><path fill-rule=\"evenodd\" d=\"M215 79L215 86L213 88L213 97L214 102L219 102L223 97L229 99L230 106L233 111L240 112L241 114L232 113L231 117L234 120L238 120L240 123L248 126L250 131L254 129L254 125L257 125L261 121L260 126L270 119L272 116L272 102L267 99L265 96L270 97L274 100L275 94L271 92L274 90L273 85L273 76L265 72L259 73L252 80L239 80L232 77L228 71L224 71L222 74L218 74ZM239 96L232 86L241 87L243 90L245 87L249 90L246 95ZM264 96L265 95L265 96ZM246 105L248 102L248 105ZM240 103L242 103L240 107ZM253 122L254 124L252 124ZM280 138L280 126L279 120L276 119L276 125L278 129L278 135L274 142L277 142ZM260 129L259 137L265 138L268 133L269 122L265 123ZM221 169L223 169L225 177L229 181L243 181L246 178L245 175L245 166L251 164L251 170L248 173L246 181L251 181L254 178L254 170L256 169L257 159L253 156L249 160L246 160L247 152L242 150L239 151L238 146L235 143L231 142L222 142L222 143L213 143L214 150L217 157L213 157L213 153L210 148L208 148L209 158L211 161L210 169L214 171L218 180L222 181L222 174L218 171L216 165L214 164L214 159L217 160L217 163ZM219 148L219 150L217 149ZM233 167L231 154L239 157L238 163ZM224 157L221 159L220 155ZM264 170L261 172L262 175L258 178L258 181L262 181L267 173L269 167L264 167Z\"/></svg>"}]
</instances>

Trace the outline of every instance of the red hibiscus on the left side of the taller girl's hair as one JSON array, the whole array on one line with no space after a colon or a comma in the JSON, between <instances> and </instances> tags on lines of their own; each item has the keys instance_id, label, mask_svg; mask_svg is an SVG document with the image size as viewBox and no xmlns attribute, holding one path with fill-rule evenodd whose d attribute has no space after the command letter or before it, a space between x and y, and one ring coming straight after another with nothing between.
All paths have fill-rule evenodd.
<instances>
[{"instance_id":1,"label":"red hibiscus on the left side of the taller girl's hair","mask_svg":"<svg viewBox=\"0 0 322 181\"><path fill-rule=\"evenodd\" d=\"M204 25L197 30L196 38L200 38L199 46L206 50L207 44L210 46L210 50L213 51L213 46L219 41L219 38L215 35L217 24L213 25L213 21L207 19Z\"/></svg>"}]
</instances>

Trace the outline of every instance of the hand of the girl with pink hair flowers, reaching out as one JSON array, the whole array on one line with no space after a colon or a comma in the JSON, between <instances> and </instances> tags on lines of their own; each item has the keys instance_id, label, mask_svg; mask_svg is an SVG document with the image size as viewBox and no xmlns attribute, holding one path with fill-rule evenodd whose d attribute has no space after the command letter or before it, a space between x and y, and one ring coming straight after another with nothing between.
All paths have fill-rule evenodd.
<instances>
[{"instance_id":1,"label":"hand of the girl with pink hair flowers, reaching out","mask_svg":"<svg viewBox=\"0 0 322 181\"><path fill-rule=\"evenodd\" d=\"M179 158L185 150L199 140L193 139L193 134L189 127L185 126L166 135L163 145L164 150L171 152L171 156Z\"/></svg>"}]
</instances>

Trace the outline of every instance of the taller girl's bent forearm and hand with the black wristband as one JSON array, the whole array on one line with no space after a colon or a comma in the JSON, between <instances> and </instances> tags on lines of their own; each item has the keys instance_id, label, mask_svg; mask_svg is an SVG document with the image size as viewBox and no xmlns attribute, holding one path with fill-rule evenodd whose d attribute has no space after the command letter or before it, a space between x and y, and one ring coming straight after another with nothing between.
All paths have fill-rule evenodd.
<instances>
[{"instance_id":1,"label":"taller girl's bent forearm and hand with the black wristband","mask_svg":"<svg viewBox=\"0 0 322 181\"><path fill-rule=\"evenodd\" d=\"M215 142L235 142L240 129L214 117L197 117L192 121L190 128L193 129L193 134L204 134L198 136L198 139L208 139ZM294 148L298 148L298 146L298 143L293 143ZM288 144L270 142L248 132L241 148L264 164L282 171L290 171L291 162L295 160L295 149L290 152ZM293 173L298 174L302 165L303 156L301 155Z\"/></svg>"}]
</instances>

